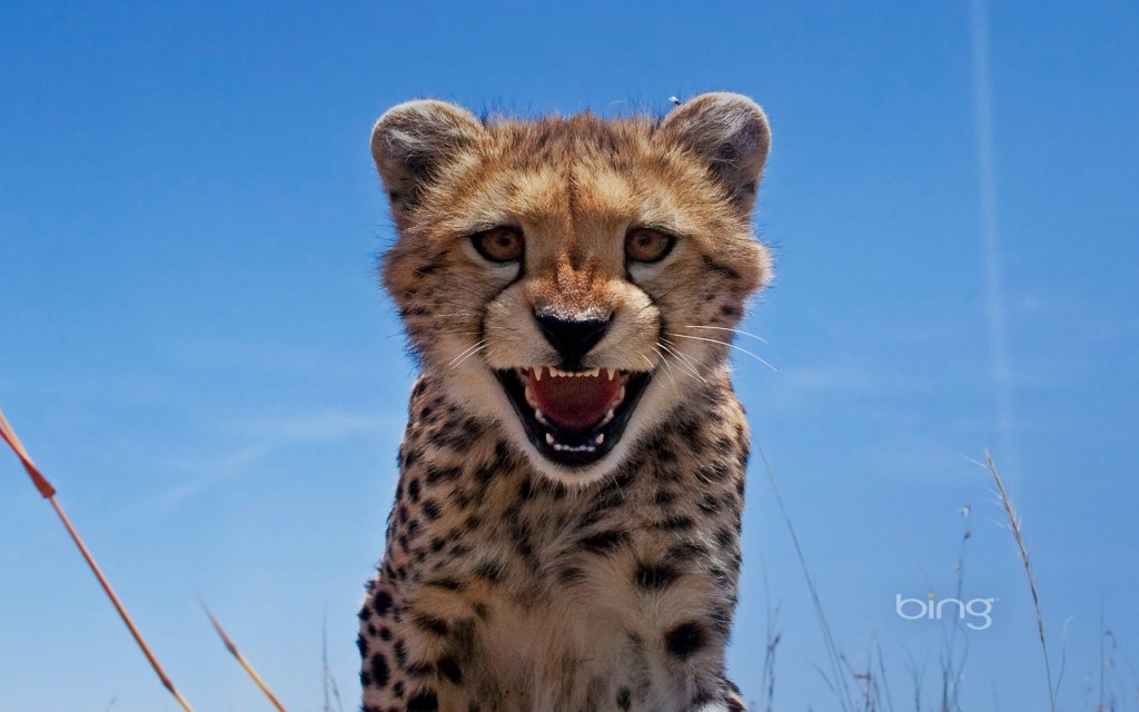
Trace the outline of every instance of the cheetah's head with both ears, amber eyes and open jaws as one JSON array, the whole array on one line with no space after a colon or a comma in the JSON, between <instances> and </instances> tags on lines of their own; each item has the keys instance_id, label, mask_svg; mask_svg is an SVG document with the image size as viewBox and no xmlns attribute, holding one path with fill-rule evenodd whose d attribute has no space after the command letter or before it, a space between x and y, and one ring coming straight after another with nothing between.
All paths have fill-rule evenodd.
<instances>
[{"instance_id":1,"label":"cheetah's head with both ears, amber eyes and open jaws","mask_svg":"<svg viewBox=\"0 0 1139 712\"><path fill-rule=\"evenodd\" d=\"M770 278L751 223L769 142L732 93L661 121L390 109L371 137L399 232L383 281L424 370L546 475L611 473L723 377Z\"/></svg>"}]
</instances>

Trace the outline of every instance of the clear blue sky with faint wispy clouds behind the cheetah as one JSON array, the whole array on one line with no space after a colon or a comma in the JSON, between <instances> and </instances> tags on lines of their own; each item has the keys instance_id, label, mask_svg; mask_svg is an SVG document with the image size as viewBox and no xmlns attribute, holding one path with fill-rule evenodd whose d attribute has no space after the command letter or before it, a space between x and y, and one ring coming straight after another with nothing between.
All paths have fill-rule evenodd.
<instances>
[{"instance_id":1,"label":"clear blue sky with faint wispy clouds behind the cheetah","mask_svg":"<svg viewBox=\"0 0 1139 712\"><path fill-rule=\"evenodd\" d=\"M778 370L738 354L737 385L838 646L861 664L878 641L898 709L926 664L932 699L945 629L895 595L952 592L967 526L964 596L998 600L965 633L965 707L1044 709L1024 574L969 459L990 448L1062 705L1098 701L1103 614L1108 682L1139 706L1133 3L981 8L988 145L976 5L417 5L0 8L0 409L198 710L267 709L198 598L292 710L321 707L327 621L358 695L413 377L374 278L372 121L424 96L620 114L720 89L773 130L756 222L778 279L743 325L769 344L739 345ZM839 709L759 460L745 540L735 677L762 697L770 601L777 709ZM5 457L0 669L3 712L175 709Z\"/></svg>"}]
</instances>

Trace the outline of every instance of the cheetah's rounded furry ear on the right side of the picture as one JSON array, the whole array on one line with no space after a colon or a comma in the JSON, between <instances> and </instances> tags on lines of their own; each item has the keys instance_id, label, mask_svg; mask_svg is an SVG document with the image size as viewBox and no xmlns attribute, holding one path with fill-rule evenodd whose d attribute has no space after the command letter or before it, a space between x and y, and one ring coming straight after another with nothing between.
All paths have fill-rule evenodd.
<instances>
[{"instance_id":1,"label":"cheetah's rounded furry ear on the right side of the picture","mask_svg":"<svg viewBox=\"0 0 1139 712\"><path fill-rule=\"evenodd\" d=\"M768 117L755 101L726 91L703 93L674 108L658 134L702 158L745 212L755 205L771 147Z\"/></svg>"}]
</instances>

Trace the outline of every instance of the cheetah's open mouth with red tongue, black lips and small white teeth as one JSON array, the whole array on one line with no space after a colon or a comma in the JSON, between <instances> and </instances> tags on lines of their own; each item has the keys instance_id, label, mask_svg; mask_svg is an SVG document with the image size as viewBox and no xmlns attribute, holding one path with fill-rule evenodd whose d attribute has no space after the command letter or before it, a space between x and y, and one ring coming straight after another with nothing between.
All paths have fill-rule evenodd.
<instances>
[{"instance_id":1,"label":"cheetah's open mouth with red tongue, black lips and small white teeth","mask_svg":"<svg viewBox=\"0 0 1139 712\"><path fill-rule=\"evenodd\" d=\"M567 467L600 460L621 440L652 371L549 366L494 371L526 436L546 459Z\"/></svg>"}]
</instances>

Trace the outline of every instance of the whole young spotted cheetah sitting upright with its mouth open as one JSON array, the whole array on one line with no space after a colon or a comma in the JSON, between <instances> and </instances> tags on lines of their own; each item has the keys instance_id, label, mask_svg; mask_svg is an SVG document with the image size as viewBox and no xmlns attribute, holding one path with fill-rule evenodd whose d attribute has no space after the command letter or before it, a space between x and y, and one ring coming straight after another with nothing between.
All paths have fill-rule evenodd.
<instances>
[{"instance_id":1,"label":"whole young spotted cheetah sitting upright with its mouth open","mask_svg":"<svg viewBox=\"0 0 1139 712\"><path fill-rule=\"evenodd\" d=\"M748 428L728 344L771 277L770 131L395 106L382 281L420 375L360 611L363 712L743 711L726 677Z\"/></svg>"}]
</instances>

